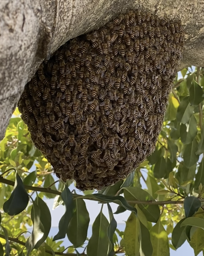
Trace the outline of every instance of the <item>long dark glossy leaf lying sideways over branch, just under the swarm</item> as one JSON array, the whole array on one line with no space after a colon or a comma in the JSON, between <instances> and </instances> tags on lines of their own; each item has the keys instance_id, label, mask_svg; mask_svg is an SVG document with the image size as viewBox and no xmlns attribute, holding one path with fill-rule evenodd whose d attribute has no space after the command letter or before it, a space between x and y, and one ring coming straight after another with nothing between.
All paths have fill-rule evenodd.
<instances>
[{"instance_id":1,"label":"long dark glossy leaf lying sideways over branch, just under the swarm","mask_svg":"<svg viewBox=\"0 0 204 256\"><path fill-rule=\"evenodd\" d=\"M106 203L115 202L116 204L120 204L126 210L133 211L137 215L137 210L134 207L132 207L130 204L128 204L126 199L122 196L107 196L107 195L101 195L101 194L94 194L94 197Z\"/></svg>"}]
</instances>

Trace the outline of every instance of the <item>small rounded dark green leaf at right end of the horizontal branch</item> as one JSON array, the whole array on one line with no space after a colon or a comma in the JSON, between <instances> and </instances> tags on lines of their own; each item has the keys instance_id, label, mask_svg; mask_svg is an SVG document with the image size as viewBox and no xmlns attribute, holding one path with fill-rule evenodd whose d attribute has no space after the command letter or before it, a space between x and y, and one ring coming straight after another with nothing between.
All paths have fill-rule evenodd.
<instances>
[{"instance_id":1,"label":"small rounded dark green leaf at right end of the horizontal branch","mask_svg":"<svg viewBox=\"0 0 204 256\"><path fill-rule=\"evenodd\" d=\"M188 196L184 199L185 217L193 216L201 207L201 201L194 196Z\"/></svg>"}]
</instances>

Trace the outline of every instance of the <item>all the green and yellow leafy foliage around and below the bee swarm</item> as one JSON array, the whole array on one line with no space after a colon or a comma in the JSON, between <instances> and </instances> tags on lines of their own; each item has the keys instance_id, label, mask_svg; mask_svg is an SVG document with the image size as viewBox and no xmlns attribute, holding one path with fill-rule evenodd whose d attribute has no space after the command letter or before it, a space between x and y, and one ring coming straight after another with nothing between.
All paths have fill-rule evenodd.
<instances>
[{"instance_id":1,"label":"all the green and yellow leafy foliage around and below the bee swarm","mask_svg":"<svg viewBox=\"0 0 204 256\"><path fill-rule=\"evenodd\" d=\"M169 248L175 250L186 240L195 255L204 252L204 70L189 67L181 74L174 81L154 153L126 180L98 192L71 192L72 181L57 181L15 110L0 142L0 256L169 256ZM65 205L54 237L48 236L46 198L54 199L54 208ZM101 204L91 237L84 199ZM111 202L118 205L115 213ZM123 232L114 215L124 211L130 216ZM33 230L25 236L28 226ZM61 246L65 236L72 243L69 248Z\"/></svg>"}]
</instances>

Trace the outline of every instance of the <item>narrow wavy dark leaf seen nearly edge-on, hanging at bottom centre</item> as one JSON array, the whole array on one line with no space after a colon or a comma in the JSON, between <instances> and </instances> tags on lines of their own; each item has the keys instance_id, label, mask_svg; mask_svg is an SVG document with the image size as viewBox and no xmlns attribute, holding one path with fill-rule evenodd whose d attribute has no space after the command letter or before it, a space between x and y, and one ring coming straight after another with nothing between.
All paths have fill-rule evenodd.
<instances>
[{"instance_id":1,"label":"narrow wavy dark leaf seen nearly edge-on, hanging at bottom centre","mask_svg":"<svg viewBox=\"0 0 204 256\"><path fill-rule=\"evenodd\" d=\"M107 203L108 206L108 212L109 212L109 218L110 218L110 224L108 225L108 237L110 240L110 246L109 246L109 254L108 256L114 256L115 251L114 251L114 242L113 242L113 235L115 233L115 229L117 227L117 222L114 219L112 209L110 207L110 204Z\"/></svg>"}]
</instances>

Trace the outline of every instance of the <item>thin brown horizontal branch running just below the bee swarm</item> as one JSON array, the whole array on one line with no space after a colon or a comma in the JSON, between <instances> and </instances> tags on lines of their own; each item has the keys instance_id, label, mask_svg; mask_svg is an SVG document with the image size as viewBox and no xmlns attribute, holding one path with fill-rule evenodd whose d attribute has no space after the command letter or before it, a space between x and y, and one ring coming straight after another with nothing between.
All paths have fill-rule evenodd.
<instances>
[{"instance_id":1,"label":"thin brown horizontal branch running just below the bee swarm","mask_svg":"<svg viewBox=\"0 0 204 256\"><path fill-rule=\"evenodd\" d=\"M14 186L14 182L11 181L11 180L7 180L7 179L4 179L3 177L0 177L0 182L1 183L4 183L4 184L8 184L8 185L11 185L11 186ZM33 190L33 191L39 191L39 192L44 192L44 193L51 193L51 194L55 194L55 195L61 195L61 191L58 191L58 190L52 190L50 188L40 188L40 187L33 187L33 186L28 186L28 185L24 185L24 188L25 189L28 189L28 190ZM77 199L78 197L81 197L81 195L78 195L78 194L72 194L73 198L74 199ZM84 196L84 199L87 199L87 200L92 200L92 201L99 201L97 198L89 198L86 196ZM204 202L204 199L199 199L201 202ZM177 201L171 201L171 200L167 200L167 201L152 201L152 200L148 200L148 201L139 201L139 200L133 200L133 201L128 201L127 202L129 204L156 204L156 205L164 205L164 204L183 204L184 201L180 201L180 200L177 200Z\"/></svg>"}]
</instances>

